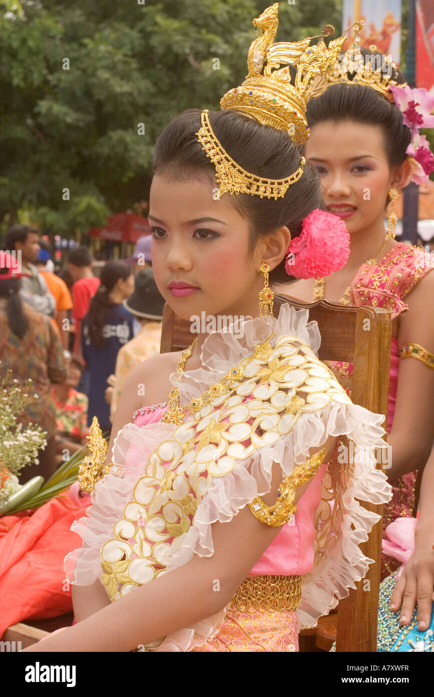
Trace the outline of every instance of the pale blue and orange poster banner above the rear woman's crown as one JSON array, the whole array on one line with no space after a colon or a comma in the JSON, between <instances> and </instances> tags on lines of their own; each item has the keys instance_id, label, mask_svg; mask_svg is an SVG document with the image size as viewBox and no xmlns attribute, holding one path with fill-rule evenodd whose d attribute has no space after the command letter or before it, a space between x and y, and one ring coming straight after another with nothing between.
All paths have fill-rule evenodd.
<instances>
[{"instance_id":1,"label":"pale blue and orange poster banner above the rear woman's crown","mask_svg":"<svg viewBox=\"0 0 434 697\"><path fill-rule=\"evenodd\" d=\"M434 0L424 0L433 4ZM401 62L401 0L343 0L342 29L348 29L354 22L364 20L364 28L360 34L360 45L369 48L377 47L378 52L392 56L392 61L399 66ZM350 47L354 34L344 49Z\"/></svg>"}]
</instances>

